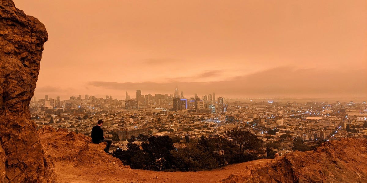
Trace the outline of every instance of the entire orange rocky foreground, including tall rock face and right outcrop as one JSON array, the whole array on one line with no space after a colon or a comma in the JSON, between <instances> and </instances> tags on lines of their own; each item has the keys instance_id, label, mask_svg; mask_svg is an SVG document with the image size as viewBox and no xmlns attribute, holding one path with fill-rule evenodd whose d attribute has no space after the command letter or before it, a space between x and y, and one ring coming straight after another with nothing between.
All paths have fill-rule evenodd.
<instances>
[{"instance_id":1,"label":"entire orange rocky foreground, including tall rock face and right outcrop","mask_svg":"<svg viewBox=\"0 0 367 183\"><path fill-rule=\"evenodd\" d=\"M44 126L37 132L29 104L40 70L44 25L0 0L0 182L367 182L367 140L327 142L294 152L200 172L132 170L82 134Z\"/></svg>"}]
</instances>

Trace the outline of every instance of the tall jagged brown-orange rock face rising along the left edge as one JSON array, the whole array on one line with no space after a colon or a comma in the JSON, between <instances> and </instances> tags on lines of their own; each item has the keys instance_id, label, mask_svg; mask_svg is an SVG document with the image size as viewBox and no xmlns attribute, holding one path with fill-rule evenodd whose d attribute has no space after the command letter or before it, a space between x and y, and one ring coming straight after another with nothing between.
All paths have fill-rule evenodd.
<instances>
[{"instance_id":1,"label":"tall jagged brown-orange rock face rising along the left edge","mask_svg":"<svg viewBox=\"0 0 367 183\"><path fill-rule=\"evenodd\" d=\"M47 38L38 19L0 0L0 182L56 182L29 114Z\"/></svg>"}]
</instances>

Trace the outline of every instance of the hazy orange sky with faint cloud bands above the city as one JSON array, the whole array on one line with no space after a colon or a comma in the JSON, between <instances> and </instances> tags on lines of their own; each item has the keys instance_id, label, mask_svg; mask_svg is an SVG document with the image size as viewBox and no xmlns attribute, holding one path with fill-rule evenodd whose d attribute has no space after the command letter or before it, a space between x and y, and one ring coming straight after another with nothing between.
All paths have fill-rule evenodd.
<instances>
[{"instance_id":1,"label":"hazy orange sky with faint cloud bands above the city","mask_svg":"<svg viewBox=\"0 0 367 183\"><path fill-rule=\"evenodd\" d=\"M49 34L36 98L367 98L366 0L14 2Z\"/></svg>"}]
</instances>

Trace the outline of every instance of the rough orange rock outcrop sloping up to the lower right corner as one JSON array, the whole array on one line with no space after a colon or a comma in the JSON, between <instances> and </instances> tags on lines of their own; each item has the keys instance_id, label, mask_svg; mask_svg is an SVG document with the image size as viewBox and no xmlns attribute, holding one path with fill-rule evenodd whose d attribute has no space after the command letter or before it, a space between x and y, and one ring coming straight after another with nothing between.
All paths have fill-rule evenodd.
<instances>
[{"instance_id":1,"label":"rough orange rock outcrop sloping up to the lower right corner","mask_svg":"<svg viewBox=\"0 0 367 183\"><path fill-rule=\"evenodd\" d=\"M367 140L341 139L315 151L277 157L248 174L233 174L222 182L306 183L367 182Z\"/></svg>"}]
</instances>

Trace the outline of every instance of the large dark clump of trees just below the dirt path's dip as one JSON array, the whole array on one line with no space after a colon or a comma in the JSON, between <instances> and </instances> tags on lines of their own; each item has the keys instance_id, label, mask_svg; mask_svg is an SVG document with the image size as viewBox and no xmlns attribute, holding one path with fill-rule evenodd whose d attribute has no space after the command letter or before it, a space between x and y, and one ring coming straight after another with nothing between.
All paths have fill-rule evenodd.
<instances>
[{"instance_id":1,"label":"large dark clump of trees just below the dirt path's dip","mask_svg":"<svg viewBox=\"0 0 367 183\"><path fill-rule=\"evenodd\" d=\"M130 142L146 138L145 135L139 136L132 137ZM174 139L177 142L180 140L179 137ZM189 136L185 140L190 141ZM258 154L263 153L262 140L248 131L227 131L225 137L202 136L197 141L176 150L168 136L152 136L148 142L142 143L142 150L138 145L129 143L128 150L116 150L114 156L135 169L201 171L255 160Z\"/></svg>"}]
</instances>

